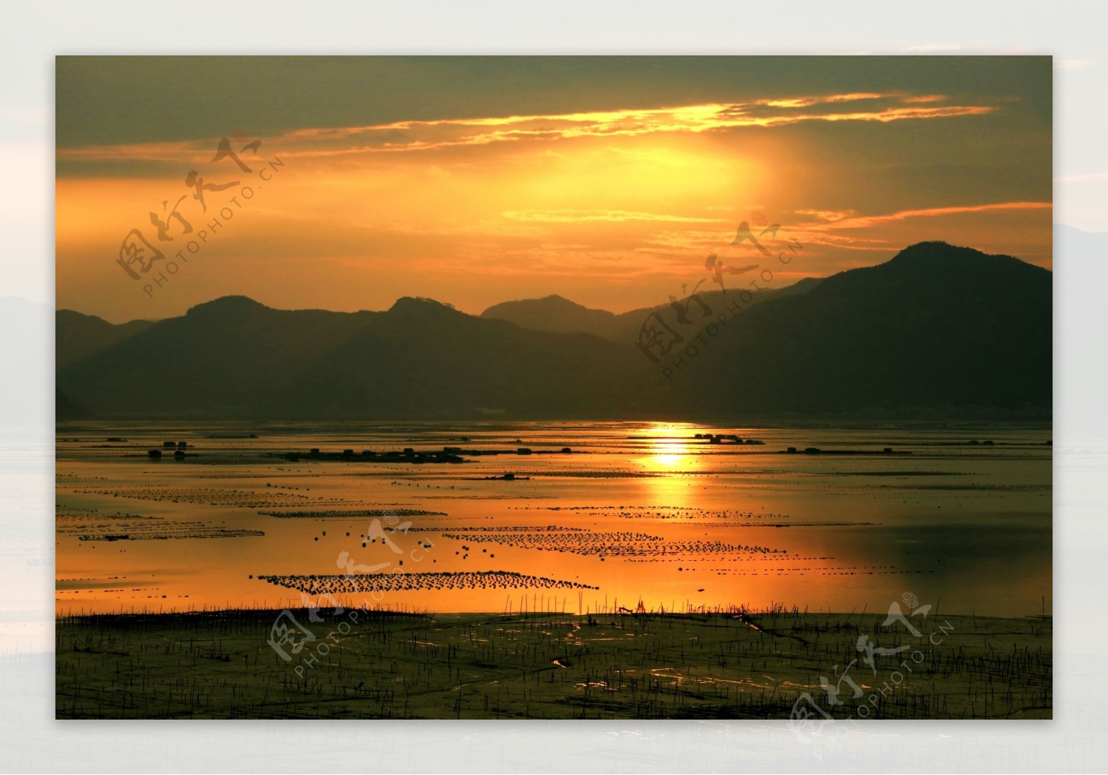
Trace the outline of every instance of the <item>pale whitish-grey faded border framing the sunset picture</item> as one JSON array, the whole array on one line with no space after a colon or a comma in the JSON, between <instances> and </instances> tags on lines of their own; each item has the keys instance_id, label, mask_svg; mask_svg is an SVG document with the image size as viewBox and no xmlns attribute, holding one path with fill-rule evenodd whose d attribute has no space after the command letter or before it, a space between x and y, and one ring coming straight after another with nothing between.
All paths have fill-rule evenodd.
<instances>
[{"instance_id":1,"label":"pale whitish-grey faded border framing the sunset picture","mask_svg":"<svg viewBox=\"0 0 1108 775\"><path fill-rule=\"evenodd\" d=\"M1094 2L37 3L0 45L0 769L1104 772L1108 149ZM53 55L1049 53L1055 57L1055 721L875 722L817 757L784 722L53 721ZM234 88L233 78L228 79ZM172 110L172 93L165 94ZM121 116L126 121L126 116ZM35 630L35 628L38 630ZM34 640L33 638L31 639Z\"/></svg>"}]
</instances>

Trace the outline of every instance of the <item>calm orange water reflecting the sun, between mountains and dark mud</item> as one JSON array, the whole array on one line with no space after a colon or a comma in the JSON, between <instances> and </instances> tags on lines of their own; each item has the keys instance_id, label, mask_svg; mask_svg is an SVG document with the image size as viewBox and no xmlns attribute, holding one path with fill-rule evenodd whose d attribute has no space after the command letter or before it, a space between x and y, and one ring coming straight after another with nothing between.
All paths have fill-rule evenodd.
<instances>
[{"instance_id":1,"label":"calm orange water reflecting the sun, between mountains and dark mud","mask_svg":"<svg viewBox=\"0 0 1108 775\"><path fill-rule=\"evenodd\" d=\"M710 445L698 432L765 445ZM211 438L239 434L257 438ZM598 588L478 581L376 595L440 612L639 601L873 612L907 591L950 613L1050 613L1049 439L1045 427L979 426L61 425L57 610L300 606L316 601L258 577L375 569L514 571ZM188 457L175 461L167 450L150 460L146 450L164 440L187 442ZM447 446L505 453L452 465L269 457ZM526 456L519 447L573 451ZM787 447L876 453L781 453ZM509 472L516 480L484 479ZM368 516L260 513L381 509L441 514L400 517L392 527L411 529L384 542L383 518L375 527ZM122 534L131 539L81 540Z\"/></svg>"}]
</instances>

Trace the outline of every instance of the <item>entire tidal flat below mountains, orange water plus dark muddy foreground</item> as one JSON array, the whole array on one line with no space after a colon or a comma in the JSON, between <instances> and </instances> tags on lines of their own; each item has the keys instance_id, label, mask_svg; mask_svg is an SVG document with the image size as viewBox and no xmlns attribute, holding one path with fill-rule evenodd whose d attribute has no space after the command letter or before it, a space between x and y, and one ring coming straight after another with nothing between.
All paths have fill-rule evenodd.
<instances>
[{"instance_id":1,"label":"entire tidal flat below mountains, orange water plus dark muddy foreground","mask_svg":"<svg viewBox=\"0 0 1108 775\"><path fill-rule=\"evenodd\" d=\"M1051 460L1035 425L60 427L57 715L1050 717Z\"/></svg>"}]
</instances>

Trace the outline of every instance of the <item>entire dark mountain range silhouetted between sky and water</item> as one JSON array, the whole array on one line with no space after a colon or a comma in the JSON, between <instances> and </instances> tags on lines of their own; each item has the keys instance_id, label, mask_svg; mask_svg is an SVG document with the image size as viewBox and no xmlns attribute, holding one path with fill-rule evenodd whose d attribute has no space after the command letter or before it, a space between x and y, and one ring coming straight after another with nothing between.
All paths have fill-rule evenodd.
<instances>
[{"instance_id":1,"label":"entire dark mountain range silhouetted between sky and water","mask_svg":"<svg viewBox=\"0 0 1108 775\"><path fill-rule=\"evenodd\" d=\"M920 243L699 338L681 328L656 364L634 343L652 310L673 323L668 304L613 315L547 297L479 317L411 297L336 313L232 296L126 327L62 310L57 383L101 418L1045 418L1051 285L1017 258Z\"/></svg>"}]
</instances>

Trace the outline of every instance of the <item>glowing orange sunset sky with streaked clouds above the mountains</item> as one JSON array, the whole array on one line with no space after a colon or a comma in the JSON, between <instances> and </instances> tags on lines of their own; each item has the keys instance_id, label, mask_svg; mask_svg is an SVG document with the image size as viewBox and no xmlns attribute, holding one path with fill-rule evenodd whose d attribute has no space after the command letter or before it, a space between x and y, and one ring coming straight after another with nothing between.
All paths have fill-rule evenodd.
<instances>
[{"instance_id":1,"label":"glowing orange sunset sky with streaked clouds above the mountains","mask_svg":"<svg viewBox=\"0 0 1108 775\"><path fill-rule=\"evenodd\" d=\"M499 109L488 82L505 78L500 70L416 59L407 72L387 58L339 59L328 65L361 77L358 100L375 89L387 98L365 122L351 121L361 115L352 94L312 103L310 77L281 112L287 80L283 92L259 77L244 88L238 114L212 106L196 129L120 122L119 102L138 96L113 70L115 58L92 59L59 59L57 297L60 308L112 322L178 315L228 294L346 310L430 296L480 313L557 293L624 312L707 277L709 253L751 263L751 245L730 243L740 222L762 217L780 224L773 249L802 246L774 268L774 286L884 262L924 239L1051 265L1049 58L896 58L900 82L850 62L833 83L819 73L824 58L803 58L757 89L738 77L756 64L776 73L774 58L650 60L663 72L688 70L685 100L673 73L654 94L649 73L624 68L607 80L626 81L626 91L599 94L592 84L606 83L603 68L623 62L596 63L591 79L587 68L566 74L571 62L553 59L542 77L561 81L547 100L505 90ZM249 62L261 73L263 59ZM288 60L299 58L281 59L295 70ZM864 58L823 67L855 59ZM938 70L924 78L906 59ZM1004 60L1013 60L1008 89ZM709 63L717 77L736 69L737 83L700 83L697 68ZM452 64L464 75L453 89L443 81ZM1025 71L1036 65L1045 95L1040 83L1028 85ZM875 59L871 67L881 69ZM381 69L390 82L407 72L407 101L375 85ZM935 89L944 82L952 88ZM114 120L103 94L92 99L98 90L114 94ZM189 99L193 113L204 110L201 96ZM189 115L186 108L170 110ZM234 123L222 128L227 116ZM249 172L213 161L223 136L236 152L260 141L240 152ZM192 170L209 185L236 185L205 191L205 213L185 184ZM164 218L182 196L177 212L192 234L170 220L158 239L150 213ZM116 262L134 228L165 256L148 272L132 264L137 281Z\"/></svg>"}]
</instances>

